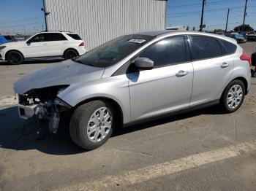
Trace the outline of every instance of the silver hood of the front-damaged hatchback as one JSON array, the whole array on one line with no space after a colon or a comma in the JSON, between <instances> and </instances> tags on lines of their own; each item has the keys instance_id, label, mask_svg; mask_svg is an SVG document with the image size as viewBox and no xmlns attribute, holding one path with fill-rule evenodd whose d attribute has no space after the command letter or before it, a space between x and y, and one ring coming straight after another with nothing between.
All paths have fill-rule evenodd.
<instances>
[{"instance_id":1,"label":"silver hood of the front-damaged hatchback","mask_svg":"<svg viewBox=\"0 0 256 191\"><path fill-rule=\"evenodd\" d=\"M79 82L100 79L105 68L87 66L71 60L54 63L20 78L14 84L15 93L55 85L72 85Z\"/></svg>"}]
</instances>

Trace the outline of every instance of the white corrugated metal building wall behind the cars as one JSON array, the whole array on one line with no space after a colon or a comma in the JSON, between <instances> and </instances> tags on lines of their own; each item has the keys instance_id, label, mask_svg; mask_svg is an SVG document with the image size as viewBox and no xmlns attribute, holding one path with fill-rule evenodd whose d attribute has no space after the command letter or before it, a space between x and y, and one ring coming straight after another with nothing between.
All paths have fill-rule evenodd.
<instances>
[{"instance_id":1,"label":"white corrugated metal building wall behind the cars","mask_svg":"<svg viewBox=\"0 0 256 191\"><path fill-rule=\"evenodd\" d=\"M87 50L124 34L165 29L164 0L45 0L48 31L77 32Z\"/></svg>"}]
</instances>

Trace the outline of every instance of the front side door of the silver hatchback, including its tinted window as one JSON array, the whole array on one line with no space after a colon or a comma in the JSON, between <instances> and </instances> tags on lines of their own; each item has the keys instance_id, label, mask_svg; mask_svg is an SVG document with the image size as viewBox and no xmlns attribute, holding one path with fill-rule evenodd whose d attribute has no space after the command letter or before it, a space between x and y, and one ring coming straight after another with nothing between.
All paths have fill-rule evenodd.
<instances>
[{"instance_id":1,"label":"front side door of the silver hatchback, including its tinted window","mask_svg":"<svg viewBox=\"0 0 256 191\"><path fill-rule=\"evenodd\" d=\"M189 106L193 69L184 36L162 39L139 57L154 61L154 68L129 73L132 120Z\"/></svg>"}]
</instances>

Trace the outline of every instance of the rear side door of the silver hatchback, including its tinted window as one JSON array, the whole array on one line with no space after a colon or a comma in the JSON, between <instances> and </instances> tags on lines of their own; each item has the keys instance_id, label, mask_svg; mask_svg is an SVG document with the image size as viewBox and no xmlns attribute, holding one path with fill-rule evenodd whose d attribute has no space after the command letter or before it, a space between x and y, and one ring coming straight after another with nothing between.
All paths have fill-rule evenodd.
<instances>
[{"instance_id":1,"label":"rear side door of the silver hatchback, including its tinted window","mask_svg":"<svg viewBox=\"0 0 256 191\"><path fill-rule=\"evenodd\" d=\"M190 104L215 101L231 77L233 57L224 54L222 44L214 37L190 36L189 44L194 68Z\"/></svg>"}]
</instances>

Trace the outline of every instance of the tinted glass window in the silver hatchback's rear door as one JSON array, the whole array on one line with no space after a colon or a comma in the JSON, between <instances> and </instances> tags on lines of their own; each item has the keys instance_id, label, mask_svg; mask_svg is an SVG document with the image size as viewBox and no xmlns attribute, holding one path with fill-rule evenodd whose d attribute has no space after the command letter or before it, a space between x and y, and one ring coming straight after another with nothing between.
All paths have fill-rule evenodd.
<instances>
[{"instance_id":1,"label":"tinted glass window in the silver hatchback's rear door","mask_svg":"<svg viewBox=\"0 0 256 191\"><path fill-rule=\"evenodd\" d=\"M208 36L191 36L190 50L192 61L222 56L217 39Z\"/></svg>"}]
</instances>

